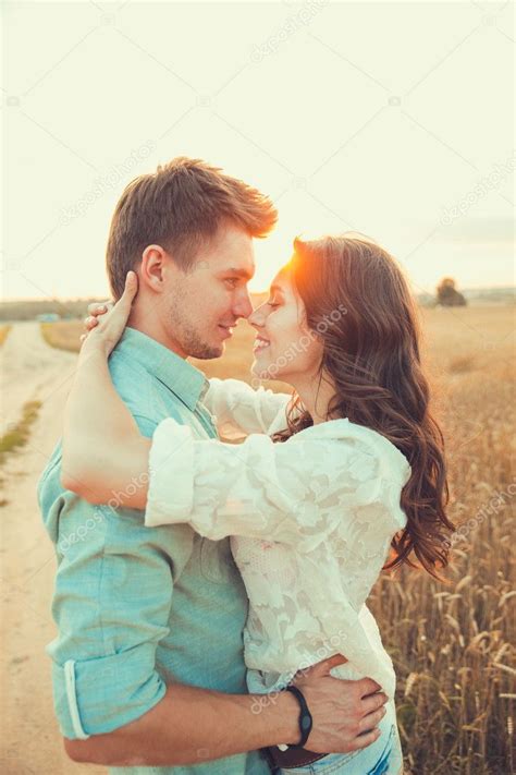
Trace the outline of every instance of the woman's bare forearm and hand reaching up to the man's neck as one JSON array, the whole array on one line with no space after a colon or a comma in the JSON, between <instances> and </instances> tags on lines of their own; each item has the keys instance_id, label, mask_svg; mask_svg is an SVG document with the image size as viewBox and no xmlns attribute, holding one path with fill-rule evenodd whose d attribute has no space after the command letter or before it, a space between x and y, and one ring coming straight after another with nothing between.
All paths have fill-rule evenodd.
<instances>
[{"instance_id":1,"label":"woman's bare forearm and hand reaching up to the man's neck","mask_svg":"<svg viewBox=\"0 0 516 775\"><path fill-rule=\"evenodd\" d=\"M120 505L145 508L150 440L115 391L108 358L122 336L137 291L130 273L125 291L83 343L66 401L61 482L93 504L116 497ZM138 482L138 487L128 487ZM127 493L136 493L128 495Z\"/></svg>"}]
</instances>

